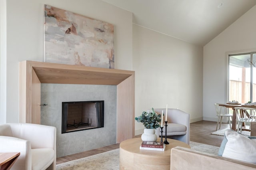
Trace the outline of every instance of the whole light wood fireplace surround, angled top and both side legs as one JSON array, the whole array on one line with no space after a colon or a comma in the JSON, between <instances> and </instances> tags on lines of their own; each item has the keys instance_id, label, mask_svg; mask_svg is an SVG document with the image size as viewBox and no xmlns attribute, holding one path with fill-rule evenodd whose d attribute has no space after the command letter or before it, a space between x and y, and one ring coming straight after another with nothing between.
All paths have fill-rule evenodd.
<instances>
[{"instance_id":1,"label":"whole light wood fireplace surround, angled top and both side legs","mask_svg":"<svg viewBox=\"0 0 256 170\"><path fill-rule=\"evenodd\" d=\"M116 85L116 141L134 137L134 71L21 61L19 81L20 123L36 124L40 124L41 83Z\"/></svg>"}]
</instances>

